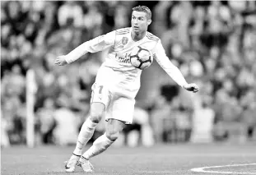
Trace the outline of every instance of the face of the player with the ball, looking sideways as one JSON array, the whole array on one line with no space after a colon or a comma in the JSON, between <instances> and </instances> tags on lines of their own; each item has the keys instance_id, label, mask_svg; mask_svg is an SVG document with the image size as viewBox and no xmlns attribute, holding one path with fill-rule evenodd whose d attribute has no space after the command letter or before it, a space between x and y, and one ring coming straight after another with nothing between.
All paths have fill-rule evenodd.
<instances>
[{"instance_id":1,"label":"face of the player with the ball, looking sideways","mask_svg":"<svg viewBox=\"0 0 256 175\"><path fill-rule=\"evenodd\" d=\"M147 31L147 26L150 25L151 20L147 19L147 13L133 11L131 23L133 31L141 33Z\"/></svg>"}]
</instances>

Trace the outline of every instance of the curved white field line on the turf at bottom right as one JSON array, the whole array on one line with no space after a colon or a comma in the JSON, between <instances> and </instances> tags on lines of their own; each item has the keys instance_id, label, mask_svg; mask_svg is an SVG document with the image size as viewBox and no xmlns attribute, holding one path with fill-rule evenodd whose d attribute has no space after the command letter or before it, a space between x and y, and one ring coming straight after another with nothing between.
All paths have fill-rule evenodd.
<instances>
[{"instance_id":1,"label":"curved white field line on the turf at bottom right","mask_svg":"<svg viewBox=\"0 0 256 175\"><path fill-rule=\"evenodd\" d=\"M253 173L238 173L238 172L219 172L219 171L212 171L212 170L204 170L204 169L207 169L207 168L240 167L240 166L247 166L247 165L256 165L256 163L228 164L228 165L221 165L221 166L192 168L192 169L190 169L190 171L197 172L197 173L256 174L256 172L253 172Z\"/></svg>"}]
</instances>

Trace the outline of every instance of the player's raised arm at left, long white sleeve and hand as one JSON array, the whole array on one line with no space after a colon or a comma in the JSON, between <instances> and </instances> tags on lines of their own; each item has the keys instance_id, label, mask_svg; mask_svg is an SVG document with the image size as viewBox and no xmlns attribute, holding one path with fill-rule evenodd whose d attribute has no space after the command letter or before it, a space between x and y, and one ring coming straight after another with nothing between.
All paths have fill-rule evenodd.
<instances>
[{"instance_id":1,"label":"player's raised arm at left, long white sleeve and hand","mask_svg":"<svg viewBox=\"0 0 256 175\"><path fill-rule=\"evenodd\" d=\"M73 49L67 55L58 56L54 63L58 66L64 66L67 63L76 61L81 58L86 53L96 53L109 48L114 45L115 31L109 32L106 35L100 35L95 39L86 41L85 43L79 45L77 48Z\"/></svg>"}]
</instances>

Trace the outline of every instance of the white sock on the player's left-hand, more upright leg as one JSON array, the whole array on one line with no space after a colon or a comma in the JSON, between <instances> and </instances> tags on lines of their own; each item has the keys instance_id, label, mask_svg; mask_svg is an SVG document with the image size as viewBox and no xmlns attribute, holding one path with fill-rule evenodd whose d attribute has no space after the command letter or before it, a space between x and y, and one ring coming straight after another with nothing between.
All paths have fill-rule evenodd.
<instances>
[{"instance_id":1,"label":"white sock on the player's left-hand, more upright leg","mask_svg":"<svg viewBox=\"0 0 256 175\"><path fill-rule=\"evenodd\" d=\"M97 124L98 123L91 122L90 117L86 119L86 122L84 122L81 126L81 131L79 132L77 138L76 149L73 151L73 154L81 155L83 146L86 145L93 136Z\"/></svg>"}]
</instances>

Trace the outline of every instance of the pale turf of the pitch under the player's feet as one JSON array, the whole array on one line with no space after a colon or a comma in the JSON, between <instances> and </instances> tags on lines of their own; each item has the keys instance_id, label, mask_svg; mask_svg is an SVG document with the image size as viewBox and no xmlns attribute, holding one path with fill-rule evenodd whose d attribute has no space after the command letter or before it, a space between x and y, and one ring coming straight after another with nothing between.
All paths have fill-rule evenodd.
<instances>
[{"instance_id":1,"label":"pale turf of the pitch under the player's feet","mask_svg":"<svg viewBox=\"0 0 256 175\"><path fill-rule=\"evenodd\" d=\"M75 173L64 172L64 161L74 146L25 146L3 148L1 174L85 174L81 168ZM193 173L191 168L226 164L256 163L256 143L235 144L178 144L156 145L151 148L110 147L105 153L91 159L95 172L91 174L211 174ZM214 171L255 173L256 165L211 168ZM221 174L221 173L214 173ZM230 173L232 174L232 173Z\"/></svg>"}]
</instances>

